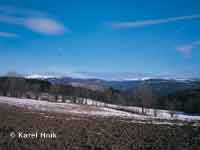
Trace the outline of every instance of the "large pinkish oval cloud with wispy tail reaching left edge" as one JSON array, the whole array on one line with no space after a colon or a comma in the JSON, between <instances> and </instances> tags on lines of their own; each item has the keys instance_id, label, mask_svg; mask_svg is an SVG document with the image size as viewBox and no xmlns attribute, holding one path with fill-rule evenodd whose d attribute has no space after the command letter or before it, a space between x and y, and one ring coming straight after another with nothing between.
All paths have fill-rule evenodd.
<instances>
[{"instance_id":1,"label":"large pinkish oval cloud with wispy tail reaching left edge","mask_svg":"<svg viewBox=\"0 0 200 150\"><path fill-rule=\"evenodd\" d=\"M70 30L61 22L39 11L0 7L0 22L23 26L45 35L60 35Z\"/></svg>"}]
</instances>

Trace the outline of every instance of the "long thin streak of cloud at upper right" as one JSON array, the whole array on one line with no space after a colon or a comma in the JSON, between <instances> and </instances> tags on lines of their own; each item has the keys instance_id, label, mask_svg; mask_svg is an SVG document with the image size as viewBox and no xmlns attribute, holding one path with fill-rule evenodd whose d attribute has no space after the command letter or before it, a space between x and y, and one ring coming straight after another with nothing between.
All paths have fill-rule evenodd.
<instances>
[{"instance_id":1,"label":"long thin streak of cloud at upper right","mask_svg":"<svg viewBox=\"0 0 200 150\"><path fill-rule=\"evenodd\" d=\"M200 15L198 14L198 15L191 15L191 16L179 16L179 17L152 19L152 20L143 20L143 21L112 22L112 23L109 23L109 25L112 28L116 28L116 29L137 28L137 27L165 24L165 23L176 22L176 21L181 21L181 20L192 20L192 19L199 19L199 18L200 18Z\"/></svg>"}]
</instances>

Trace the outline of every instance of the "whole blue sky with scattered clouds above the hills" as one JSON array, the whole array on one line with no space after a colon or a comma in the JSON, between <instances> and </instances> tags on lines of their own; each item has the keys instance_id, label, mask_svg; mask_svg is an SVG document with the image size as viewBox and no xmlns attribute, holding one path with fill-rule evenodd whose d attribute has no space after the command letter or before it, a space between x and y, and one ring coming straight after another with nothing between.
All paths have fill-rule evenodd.
<instances>
[{"instance_id":1,"label":"whole blue sky with scattered clouds above the hills","mask_svg":"<svg viewBox=\"0 0 200 150\"><path fill-rule=\"evenodd\" d=\"M200 1L0 0L0 73L200 75Z\"/></svg>"}]
</instances>

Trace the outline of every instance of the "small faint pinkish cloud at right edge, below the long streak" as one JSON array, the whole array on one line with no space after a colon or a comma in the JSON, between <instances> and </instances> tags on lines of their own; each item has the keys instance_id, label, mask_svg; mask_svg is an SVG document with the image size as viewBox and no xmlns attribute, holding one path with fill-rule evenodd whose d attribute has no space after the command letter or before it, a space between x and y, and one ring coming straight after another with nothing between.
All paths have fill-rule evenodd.
<instances>
[{"instance_id":1,"label":"small faint pinkish cloud at right edge, below the long streak","mask_svg":"<svg viewBox=\"0 0 200 150\"><path fill-rule=\"evenodd\" d=\"M177 51L179 51L180 53L184 55L189 55L192 52L192 50L196 48L197 46L200 46L200 41L194 41L189 44L178 46Z\"/></svg>"}]
</instances>

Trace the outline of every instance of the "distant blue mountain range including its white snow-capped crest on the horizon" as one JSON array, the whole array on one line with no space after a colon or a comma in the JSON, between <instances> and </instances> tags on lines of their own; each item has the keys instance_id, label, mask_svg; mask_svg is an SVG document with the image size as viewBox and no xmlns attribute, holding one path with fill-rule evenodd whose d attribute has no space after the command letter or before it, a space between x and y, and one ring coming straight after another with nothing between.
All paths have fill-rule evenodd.
<instances>
[{"instance_id":1,"label":"distant blue mountain range including its white snow-capped crest on the horizon","mask_svg":"<svg viewBox=\"0 0 200 150\"><path fill-rule=\"evenodd\" d=\"M104 91L110 87L131 91L145 84L159 94L168 94L187 89L200 88L200 79L196 78L172 78L172 77L147 77L126 78L120 80L105 80L99 78L74 78L65 77L55 74L34 74L26 78L41 79L51 82L52 84L72 85L74 87L85 87L92 90Z\"/></svg>"}]
</instances>

